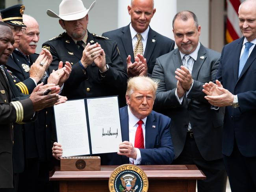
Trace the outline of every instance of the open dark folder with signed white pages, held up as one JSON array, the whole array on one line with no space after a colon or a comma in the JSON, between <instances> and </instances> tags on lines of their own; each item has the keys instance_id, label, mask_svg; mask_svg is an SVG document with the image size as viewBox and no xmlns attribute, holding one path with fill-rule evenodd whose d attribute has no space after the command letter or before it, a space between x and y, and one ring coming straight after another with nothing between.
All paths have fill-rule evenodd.
<instances>
[{"instance_id":1,"label":"open dark folder with signed white pages, held up","mask_svg":"<svg viewBox=\"0 0 256 192\"><path fill-rule=\"evenodd\" d=\"M118 97L69 100L54 106L63 157L117 152L122 142Z\"/></svg>"}]
</instances>

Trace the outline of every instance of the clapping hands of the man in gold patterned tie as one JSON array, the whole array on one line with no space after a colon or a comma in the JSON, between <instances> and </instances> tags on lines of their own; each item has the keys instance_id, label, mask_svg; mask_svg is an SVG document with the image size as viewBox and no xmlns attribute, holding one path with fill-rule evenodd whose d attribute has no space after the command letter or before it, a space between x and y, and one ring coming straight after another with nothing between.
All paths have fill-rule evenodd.
<instances>
[{"instance_id":1,"label":"clapping hands of the man in gold patterned tie","mask_svg":"<svg viewBox=\"0 0 256 192\"><path fill-rule=\"evenodd\" d=\"M128 55L126 59L127 63L127 74L128 77L134 76L147 76L148 75L148 66L147 59L141 54L137 54L134 57L134 63L131 62L131 55Z\"/></svg>"}]
</instances>

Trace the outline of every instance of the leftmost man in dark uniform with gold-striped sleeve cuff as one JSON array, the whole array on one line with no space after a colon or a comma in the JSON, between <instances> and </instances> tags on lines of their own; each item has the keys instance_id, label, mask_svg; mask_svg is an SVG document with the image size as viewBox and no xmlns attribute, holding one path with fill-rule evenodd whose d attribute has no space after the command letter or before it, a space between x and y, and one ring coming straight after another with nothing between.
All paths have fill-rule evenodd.
<instances>
[{"instance_id":1,"label":"leftmost man in dark uniform with gold-striped sleeve cuff","mask_svg":"<svg viewBox=\"0 0 256 192\"><path fill-rule=\"evenodd\" d=\"M6 64L13 51L15 42L11 29L7 24L0 22L0 63ZM31 120L35 111L50 107L58 100L58 94L43 96L37 86L30 97L24 97L9 76L6 68L0 66L0 190L12 191L13 188L13 123L23 124ZM47 88L48 89L48 88ZM56 89L56 87L55 87ZM53 89L52 89L53 90ZM16 98L15 98L16 97ZM19 98L18 98L19 97Z\"/></svg>"}]
</instances>

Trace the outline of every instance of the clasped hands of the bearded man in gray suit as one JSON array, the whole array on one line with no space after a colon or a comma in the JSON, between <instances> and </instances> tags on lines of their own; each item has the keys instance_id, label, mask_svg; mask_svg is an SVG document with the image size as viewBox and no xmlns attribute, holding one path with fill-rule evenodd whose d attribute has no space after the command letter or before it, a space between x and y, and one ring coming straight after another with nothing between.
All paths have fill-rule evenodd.
<instances>
[{"instance_id":1,"label":"clasped hands of the bearded man in gray suit","mask_svg":"<svg viewBox=\"0 0 256 192\"><path fill-rule=\"evenodd\" d=\"M178 97L181 98L185 94L185 92L191 88L193 79L189 70L183 65L180 66L180 68L176 69L175 74L175 78L178 80L177 94Z\"/></svg>"}]
</instances>

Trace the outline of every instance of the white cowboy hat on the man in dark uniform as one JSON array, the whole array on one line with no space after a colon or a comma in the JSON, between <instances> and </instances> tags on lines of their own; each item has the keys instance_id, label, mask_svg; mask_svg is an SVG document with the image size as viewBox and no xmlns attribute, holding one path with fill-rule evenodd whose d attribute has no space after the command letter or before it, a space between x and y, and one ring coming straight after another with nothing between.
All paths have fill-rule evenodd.
<instances>
[{"instance_id":1,"label":"white cowboy hat on the man in dark uniform","mask_svg":"<svg viewBox=\"0 0 256 192\"><path fill-rule=\"evenodd\" d=\"M95 2L96 1L91 4L89 9L86 9L82 0L62 0L59 4L59 15L50 9L47 9L46 13L50 17L61 18L66 21L78 20L87 15L95 5Z\"/></svg>"}]
</instances>

